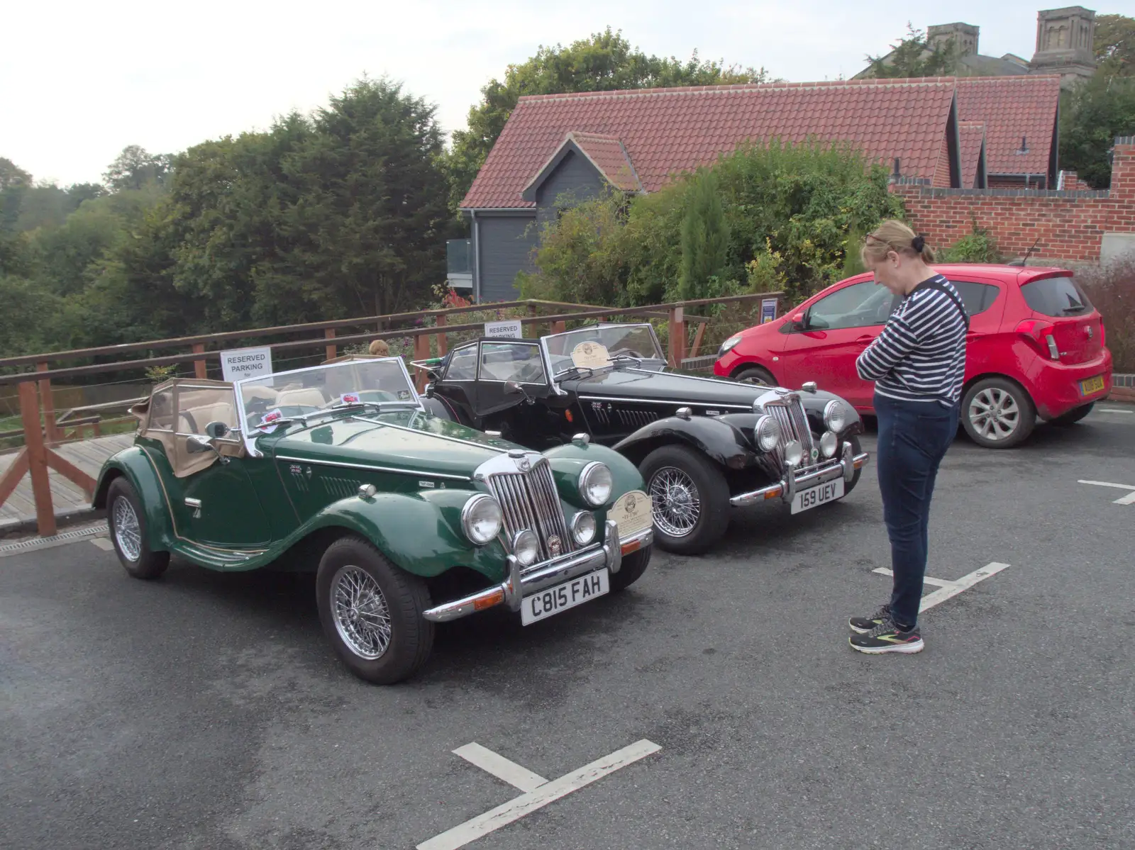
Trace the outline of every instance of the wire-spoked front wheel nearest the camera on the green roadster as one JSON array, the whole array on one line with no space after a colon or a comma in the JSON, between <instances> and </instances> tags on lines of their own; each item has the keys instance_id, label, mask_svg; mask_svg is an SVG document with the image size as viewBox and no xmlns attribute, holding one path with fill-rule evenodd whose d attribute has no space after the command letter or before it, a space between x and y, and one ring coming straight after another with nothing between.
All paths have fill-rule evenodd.
<instances>
[{"instance_id":1,"label":"wire-spoked front wheel nearest the camera on the green roadster","mask_svg":"<svg viewBox=\"0 0 1135 850\"><path fill-rule=\"evenodd\" d=\"M327 547L316 575L316 603L335 651L368 682L407 679L434 647L434 624L422 616L430 606L426 582L361 537Z\"/></svg>"}]
</instances>

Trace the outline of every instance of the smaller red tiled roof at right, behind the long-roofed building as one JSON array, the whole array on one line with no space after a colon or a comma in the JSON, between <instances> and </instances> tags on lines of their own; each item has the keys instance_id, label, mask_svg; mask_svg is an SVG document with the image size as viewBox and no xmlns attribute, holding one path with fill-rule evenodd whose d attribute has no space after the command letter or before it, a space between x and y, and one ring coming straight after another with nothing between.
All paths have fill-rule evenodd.
<instances>
[{"instance_id":1,"label":"smaller red tiled roof at right, behind the long-roofed building","mask_svg":"<svg viewBox=\"0 0 1135 850\"><path fill-rule=\"evenodd\" d=\"M967 77L958 81L958 119L985 124L989 174L1049 172L1060 76ZM1020 140L1028 153L1017 153Z\"/></svg>"}]
</instances>

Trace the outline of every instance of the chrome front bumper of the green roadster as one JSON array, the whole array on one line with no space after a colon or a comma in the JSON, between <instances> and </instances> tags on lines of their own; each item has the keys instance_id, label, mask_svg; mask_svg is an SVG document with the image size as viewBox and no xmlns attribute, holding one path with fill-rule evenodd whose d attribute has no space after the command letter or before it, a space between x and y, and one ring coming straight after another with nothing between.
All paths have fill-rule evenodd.
<instances>
[{"instance_id":1,"label":"chrome front bumper of the green roadster","mask_svg":"<svg viewBox=\"0 0 1135 850\"><path fill-rule=\"evenodd\" d=\"M617 573L623 565L623 555L654 542L653 528L645 529L625 540L619 539L619 525L614 520L607 520L604 530L605 542L592 544L580 552L552 558L543 564L522 567L515 556L508 555L508 578L505 581L461 599L454 599L452 603L428 608L422 616L432 623L447 623L497 605L507 605L511 611L520 611L526 596L538 594L553 584L595 572L604 566L612 574Z\"/></svg>"}]
</instances>

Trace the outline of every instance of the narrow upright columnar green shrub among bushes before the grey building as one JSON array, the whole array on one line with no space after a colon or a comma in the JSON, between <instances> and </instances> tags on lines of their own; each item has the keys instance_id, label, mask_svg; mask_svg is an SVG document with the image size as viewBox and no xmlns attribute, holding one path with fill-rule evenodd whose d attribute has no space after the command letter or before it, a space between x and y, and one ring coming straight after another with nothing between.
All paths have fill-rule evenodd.
<instances>
[{"instance_id":1,"label":"narrow upright columnar green shrub among bushes before the grey building","mask_svg":"<svg viewBox=\"0 0 1135 850\"><path fill-rule=\"evenodd\" d=\"M690 178L686 217L682 219L682 298L721 295L721 273L729 254L729 225L721 204L717 175L704 169Z\"/></svg>"}]
</instances>

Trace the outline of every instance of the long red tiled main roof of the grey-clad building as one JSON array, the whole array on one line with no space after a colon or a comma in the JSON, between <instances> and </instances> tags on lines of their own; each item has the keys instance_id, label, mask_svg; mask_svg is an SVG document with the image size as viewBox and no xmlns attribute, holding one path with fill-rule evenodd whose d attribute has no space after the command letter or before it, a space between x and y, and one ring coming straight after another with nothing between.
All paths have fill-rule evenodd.
<instances>
[{"instance_id":1,"label":"long red tiled main roof of the grey-clad building","mask_svg":"<svg viewBox=\"0 0 1135 850\"><path fill-rule=\"evenodd\" d=\"M530 95L520 99L461 207L533 207L521 192L569 133L603 137L595 144L604 162L612 142L621 142L647 192L745 141L773 137L847 142L888 165L898 157L905 176L933 179L955 85L942 77Z\"/></svg>"}]
</instances>

